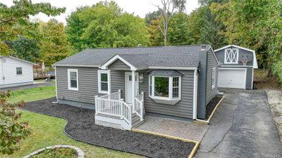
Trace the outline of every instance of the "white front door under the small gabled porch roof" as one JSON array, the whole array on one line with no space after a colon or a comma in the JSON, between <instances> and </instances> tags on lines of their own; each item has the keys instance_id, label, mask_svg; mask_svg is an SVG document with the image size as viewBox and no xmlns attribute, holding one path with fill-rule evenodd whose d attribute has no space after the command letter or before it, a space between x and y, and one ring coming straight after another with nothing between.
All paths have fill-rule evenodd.
<instances>
[{"instance_id":1,"label":"white front door under the small gabled porch roof","mask_svg":"<svg viewBox=\"0 0 282 158\"><path fill-rule=\"evenodd\" d=\"M125 102L133 103L132 72L125 72ZM135 96L139 94L138 72L135 72Z\"/></svg>"}]
</instances>

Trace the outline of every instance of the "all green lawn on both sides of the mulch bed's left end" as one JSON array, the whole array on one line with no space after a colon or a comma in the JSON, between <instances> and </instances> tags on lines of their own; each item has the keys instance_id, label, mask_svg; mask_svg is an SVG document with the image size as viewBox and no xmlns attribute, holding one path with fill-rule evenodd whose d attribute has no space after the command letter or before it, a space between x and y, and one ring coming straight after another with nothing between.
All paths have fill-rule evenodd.
<instances>
[{"instance_id":1,"label":"all green lawn on both sides of the mulch bed's left end","mask_svg":"<svg viewBox=\"0 0 282 158\"><path fill-rule=\"evenodd\" d=\"M56 96L55 87L45 86L12 91L9 101L16 102L25 100L25 102L29 102L54 96ZM20 143L20 150L16 151L13 155L0 154L0 158L24 157L35 150L39 150L42 147L50 145L74 145L80 147L80 149L85 152L85 157L141 157L136 154L129 154L126 152L109 150L105 147L88 145L68 138L63 134L63 128L67 124L67 121L64 119L49 117L44 114L27 112L24 110L19 111L23 112L22 119L29 122L29 126L32 129L32 135Z\"/></svg>"}]
</instances>

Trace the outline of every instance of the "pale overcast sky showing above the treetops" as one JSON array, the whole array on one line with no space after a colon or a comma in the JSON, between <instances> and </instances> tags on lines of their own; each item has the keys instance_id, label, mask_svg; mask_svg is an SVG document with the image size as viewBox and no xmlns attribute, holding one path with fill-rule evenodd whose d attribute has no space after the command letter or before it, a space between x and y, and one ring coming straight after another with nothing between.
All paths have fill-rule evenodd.
<instances>
[{"instance_id":1,"label":"pale overcast sky showing above the treetops","mask_svg":"<svg viewBox=\"0 0 282 158\"><path fill-rule=\"evenodd\" d=\"M77 6L92 6L101 0L32 0L32 3L39 2L49 2L52 6L56 7L66 7L66 12L56 16L56 20L63 22L66 24L66 17L70 15L72 11L75 11ZM145 18L146 13L156 11L157 8L154 5L158 5L161 3L161 0L114 0L123 8L123 11L128 13L134 13L135 15L139 15L142 18ZM186 4L186 13L190 13L199 5L197 3L198 0L187 0ZM13 5L13 0L0 0L1 3L6 4L7 6ZM40 13L35 16L35 18L39 18L40 20L47 22L50 18L47 15Z\"/></svg>"}]
</instances>

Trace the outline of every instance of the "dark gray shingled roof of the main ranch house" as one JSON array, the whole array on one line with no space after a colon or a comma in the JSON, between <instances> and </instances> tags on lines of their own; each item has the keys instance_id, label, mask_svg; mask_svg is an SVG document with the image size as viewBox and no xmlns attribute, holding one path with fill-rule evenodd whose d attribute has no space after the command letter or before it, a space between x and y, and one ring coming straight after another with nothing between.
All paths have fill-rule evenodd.
<instances>
[{"instance_id":1,"label":"dark gray shingled roof of the main ranch house","mask_svg":"<svg viewBox=\"0 0 282 158\"><path fill-rule=\"evenodd\" d=\"M207 45L205 51L210 47ZM201 45L95 48L65 58L54 66L102 67L122 59L139 70L148 67L198 67L200 52Z\"/></svg>"}]
</instances>

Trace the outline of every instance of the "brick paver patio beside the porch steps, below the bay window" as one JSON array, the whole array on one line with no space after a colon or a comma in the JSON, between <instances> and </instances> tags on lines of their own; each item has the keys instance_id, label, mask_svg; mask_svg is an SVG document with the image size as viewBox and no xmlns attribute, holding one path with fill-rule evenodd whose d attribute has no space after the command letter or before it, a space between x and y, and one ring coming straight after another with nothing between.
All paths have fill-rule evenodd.
<instances>
[{"instance_id":1,"label":"brick paver patio beside the porch steps, below the bay window","mask_svg":"<svg viewBox=\"0 0 282 158\"><path fill-rule=\"evenodd\" d=\"M144 123L134 129L201 141L208 125L145 115Z\"/></svg>"}]
</instances>

